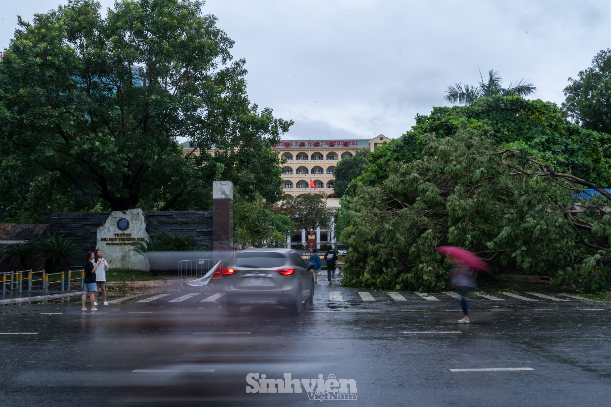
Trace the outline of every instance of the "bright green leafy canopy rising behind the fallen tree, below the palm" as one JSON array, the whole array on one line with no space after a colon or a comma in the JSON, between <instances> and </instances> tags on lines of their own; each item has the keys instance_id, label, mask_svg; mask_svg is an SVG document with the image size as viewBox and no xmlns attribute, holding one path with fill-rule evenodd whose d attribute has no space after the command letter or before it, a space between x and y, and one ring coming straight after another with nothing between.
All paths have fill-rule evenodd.
<instances>
[{"instance_id":1,"label":"bright green leafy canopy rising behind the fallen tree, below the palm","mask_svg":"<svg viewBox=\"0 0 611 407\"><path fill-rule=\"evenodd\" d=\"M417 115L412 131L370 154L359 182L380 185L392 163L419 158L425 134L444 138L462 128L481 131L496 145L525 150L557 171L603 186L611 178L611 161L604 153L611 136L573 125L554 103L495 95L469 106L436 107L428 116Z\"/></svg>"}]
</instances>

